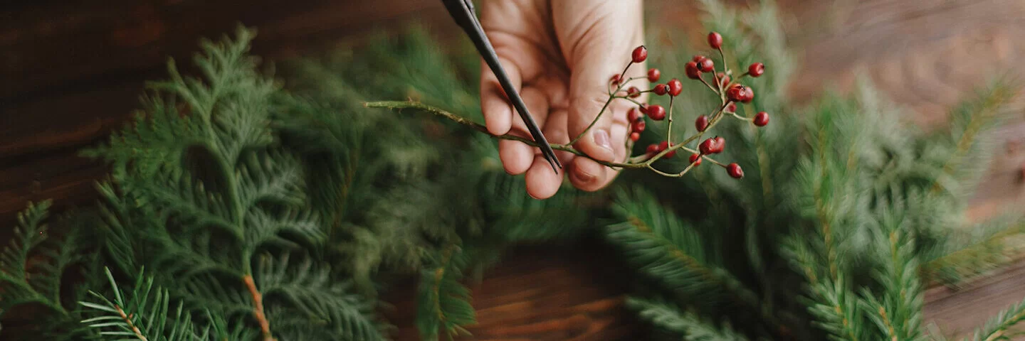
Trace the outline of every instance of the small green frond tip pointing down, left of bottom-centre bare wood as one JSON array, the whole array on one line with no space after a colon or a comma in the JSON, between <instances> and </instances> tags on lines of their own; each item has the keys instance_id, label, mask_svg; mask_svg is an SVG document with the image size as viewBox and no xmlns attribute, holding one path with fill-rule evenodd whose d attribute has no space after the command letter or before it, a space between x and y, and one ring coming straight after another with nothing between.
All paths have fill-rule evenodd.
<instances>
[{"instance_id":1,"label":"small green frond tip pointing down, left of bottom-centre bare wood","mask_svg":"<svg viewBox=\"0 0 1025 341\"><path fill-rule=\"evenodd\" d=\"M424 340L469 335L464 327L477 324L469 289L459 283L467 262L463 251L451 245L439 252L433 266L421 271L416 325Z\"/></svg>"}]
</instances>

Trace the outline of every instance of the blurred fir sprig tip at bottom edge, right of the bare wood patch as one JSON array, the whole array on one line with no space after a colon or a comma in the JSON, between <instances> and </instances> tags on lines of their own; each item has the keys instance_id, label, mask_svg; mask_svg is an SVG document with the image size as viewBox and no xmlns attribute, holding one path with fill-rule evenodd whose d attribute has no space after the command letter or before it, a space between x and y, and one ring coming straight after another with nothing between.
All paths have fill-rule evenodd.
<instances>
[{"instance_id":1,"label":"blurred fir sprig tip at bottom edge, right of the bare wood patch","mask_svg":"<svg viewBox=\"0 0 1025 341\"><path fill-rule=\"evenodd\" d=\"M630 297L626 306L637 310L645 322L658 326L659 329L682 335L687 341L746 341L747 338L737 333L729 324L714 326L702 321L694 312L684 312L670 303L660 300L647 300ZM679 338L679 336L678 336Z\"/></svg>"}]
</instances>

